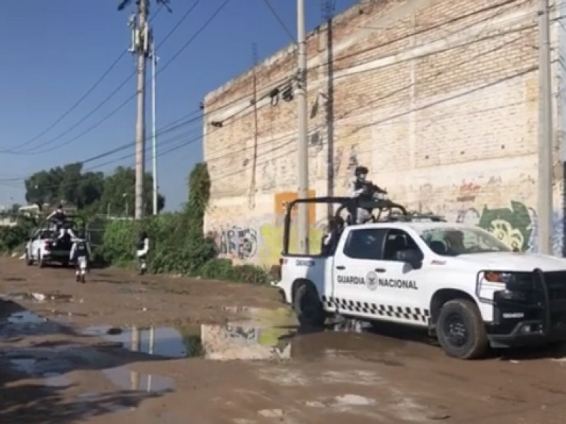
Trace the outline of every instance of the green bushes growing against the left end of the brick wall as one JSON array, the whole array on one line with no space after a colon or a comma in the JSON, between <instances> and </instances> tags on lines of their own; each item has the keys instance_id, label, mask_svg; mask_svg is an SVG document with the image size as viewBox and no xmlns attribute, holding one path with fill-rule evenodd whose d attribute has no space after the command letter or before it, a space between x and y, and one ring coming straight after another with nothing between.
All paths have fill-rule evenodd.
<instances>
[{"instance_id":1,"label":"green bushes growing against the left end of the brick wall","mask_svg":"<svg viewBox=\"0 0 566 424\"><path fill-rule=\"evenodd\" d=\"M189 177L189 200L182 212L164 213L144 221L112 221L105 225L96 254L105 263L131 266L137 237L145 230L151 242L149 268L153 273L182 273L228 281L264 284L265 270L252 265L233 266L216 258L214 242L204 237L204 211L210 191L207 165L199 163Z\"/></svg>"}]
</instances>

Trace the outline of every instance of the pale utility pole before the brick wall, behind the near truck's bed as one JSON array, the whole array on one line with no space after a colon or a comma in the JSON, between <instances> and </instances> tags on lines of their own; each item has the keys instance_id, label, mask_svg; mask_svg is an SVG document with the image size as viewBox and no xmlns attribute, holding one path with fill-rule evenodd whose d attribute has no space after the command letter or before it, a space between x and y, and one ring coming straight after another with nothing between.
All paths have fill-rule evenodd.
<instances>
[{"instance_id":1,"label":"pale utility pole before the brick wall, behind the near truck's bed","mask_svg":"<svg viewBox=\"0 0 566 424\"><path fill-rule=\"evenodd\" d=\"M296 101L298 114L299 146L297 148L299 160L299 190L297 197L308 197L308 121L306 98L306 28L305 28L305 0L296 1L297 44L299 47L298 69L296 75ZM308 254L308 205L299 204L299 252Z\"/></svg>"}]
</instances>

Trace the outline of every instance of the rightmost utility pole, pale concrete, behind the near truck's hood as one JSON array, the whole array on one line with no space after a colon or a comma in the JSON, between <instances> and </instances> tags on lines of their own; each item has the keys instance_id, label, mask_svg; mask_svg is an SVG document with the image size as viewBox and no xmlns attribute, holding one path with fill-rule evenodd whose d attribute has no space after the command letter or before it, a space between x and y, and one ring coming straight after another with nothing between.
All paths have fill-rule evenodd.
<instances>
[{"instance_id":1,"label":"rightmost utility pole, pale concrete, behind the near truck's hood","mask_svg":"<svg viewBox=\"0 0 566 424\"><path fill-rule=\"evenodd\" d=\"M553 116L548 0L538 0L538 252L553 254Z\"/></svg>"}]
</instances>

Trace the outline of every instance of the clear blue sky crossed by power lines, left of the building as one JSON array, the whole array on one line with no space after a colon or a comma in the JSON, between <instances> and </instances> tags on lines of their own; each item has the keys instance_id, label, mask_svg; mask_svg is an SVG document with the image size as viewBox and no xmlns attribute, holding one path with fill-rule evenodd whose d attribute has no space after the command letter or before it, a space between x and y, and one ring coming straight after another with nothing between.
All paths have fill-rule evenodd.
<instances>
[{"instance_id":1,"label":"clear blue sky crossed by power lines, left of the building","mask_svg":"<svg viewBox=\"0 0 566 424\"><path fill-rule=\"evenodd\" d=\"M162 65L178 52L223 1L200 1L158 51ZM296 1L269 1L295 35ZM308 30L322 20L321 1L306 0ZM194 2L171 0L173 13L163 10L157 14L152 22L157 43ZM93 7L94 3L98 5ZM155 12L157 6L154 0L151 3L152 12ZM357 0L335 0L335 11L340 13L355 3ZM118 0L0 1L0 151L26 143L51 126L129 46L127 18L133 6L118 12L117 4ZM157 127L166 126L191 112L196 113L206 93L249 69L253 42L258 46L259 59L263 59L288 45L290 40L264 0L231 0L158 76ZM77 136L134 94L134 78L91 117L68 131L100 105L132 71L134 62L128 54L73 112L46 134L22 147L26 154L0 153L0 205L23 203L23 181L18 178L91 158L128 142L132 142L131 149L88 163L85 167L107 172L118 165L133 165L134 101L96 129ZM147 124L149 134L149 120ZM61 136L66 131L67 134ZM199 134L202 134L202 126L197 121L178 131L163 134L159 141L173 139L163 146L166 149ZM178 139L175 140L175 137ZM74 138L76 140L71 141ZM63 143L64 146L57 148ZM29 154L30 148L35 148L35 154ZM129 158L123 158L129 153ZM150 158L148 155L148 170L151 170ZM186 201L186 177L200 160L200 141L158 157L158 182L160 192L166 196L168 210L178 208ZM115 162L105 165L109 161Z\"/></svg>"}]
</instances>

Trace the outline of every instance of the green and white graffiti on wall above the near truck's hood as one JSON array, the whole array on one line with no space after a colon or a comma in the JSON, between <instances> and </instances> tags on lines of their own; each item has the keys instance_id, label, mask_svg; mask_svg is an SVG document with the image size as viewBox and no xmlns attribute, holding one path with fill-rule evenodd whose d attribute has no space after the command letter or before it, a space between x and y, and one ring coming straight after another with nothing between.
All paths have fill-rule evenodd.
<instances>
[{"instance_id":1,"label":"green and white graffiti on wall above the near truck's hood","mask_svg":"<svg viewBox=\"0 0 566 424\"><path fill-rule=\"evenodd\" d=\"M520 201L511 201L503 208L463 209L458 211L456 222L478 225L521 252L538 252L538 216L533 208ZM555 212L551 242L553 253L557 256L562 256L563 228L562 214Z\"/></svg>"}]
</instances>

